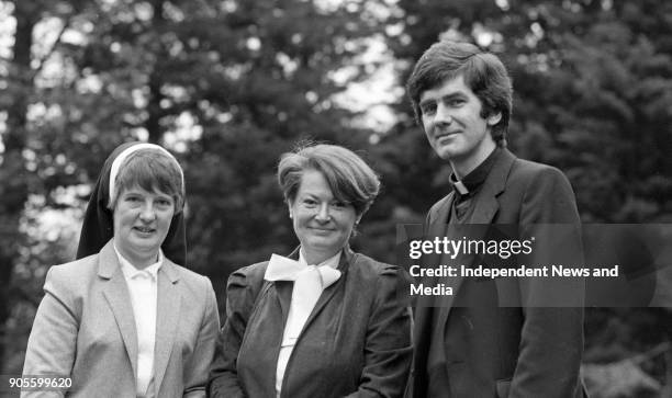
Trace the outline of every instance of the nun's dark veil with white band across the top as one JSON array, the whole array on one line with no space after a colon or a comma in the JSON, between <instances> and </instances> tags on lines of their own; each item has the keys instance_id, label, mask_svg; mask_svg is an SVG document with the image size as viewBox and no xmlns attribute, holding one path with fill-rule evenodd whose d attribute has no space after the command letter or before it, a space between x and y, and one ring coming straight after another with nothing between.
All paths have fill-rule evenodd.
<instances>
[{"instance_id":1,"label":"nun's dark veil with white band across the top","mask_svg":"<svg viewBox=\"0 0 672 398\"><path fill-rule=\"evenodd\" d=\"M108 208L108 204L112 197L111 192L114 189L114 180L111 179L110 175L113 174L113 178L115 178L126 157L138 149L160 150L172 158L172 155L166 149L158 145L147 143L126 143L120 145L112 151L103 164L102 171L93 187L93 192L91 193L91 198L89 198L89 204L87 205L87 212L85 213L81 234L79 236L77 259L97 254L114 236L112 211ZM183 186L182 177L182 187ZM184 234L184 212L175 212L161 249L164 250L164 254L172 262L186 265L187 240Z\"/></svg>"}]
</instances>

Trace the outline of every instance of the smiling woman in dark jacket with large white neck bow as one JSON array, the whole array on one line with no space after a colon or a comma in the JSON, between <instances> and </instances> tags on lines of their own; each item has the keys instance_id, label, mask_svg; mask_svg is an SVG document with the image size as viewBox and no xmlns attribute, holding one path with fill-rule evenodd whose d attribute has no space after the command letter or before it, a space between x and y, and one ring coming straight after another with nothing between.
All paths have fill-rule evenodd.
<instances>
[{"instance_id":1,"label":"smiling woman in dark jacket with large white neck bow","mask_svg":"<svg viewBox=\"0 0 672 398\"><path fill-rule=\"evenodd\" d=\"M284 153L278 181L301 246L231 275L211 396L401 397L408 275L348 246L378 177L352 151L316 145Z\"/></svg>"}]
</instances>

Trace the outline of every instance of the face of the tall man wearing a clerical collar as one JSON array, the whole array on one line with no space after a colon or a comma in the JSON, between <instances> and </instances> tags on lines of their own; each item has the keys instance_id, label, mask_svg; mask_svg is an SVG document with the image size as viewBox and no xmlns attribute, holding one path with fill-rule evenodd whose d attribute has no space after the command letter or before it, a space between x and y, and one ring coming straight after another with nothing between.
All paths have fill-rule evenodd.
<instances>
[{"instance_id":1,"label":"face of the tall man wearing a clerical collar","mask_svg":"<svg viewBox=\"0 0 672 398\"><path fill-rule=\"evenodd\" d=\"M441 159L450 161L460 178L495 148L490 129L502 115L495 113L484 118L482 107L461 75L419 96L421 120L429 145Z\"/></svg>"}]
</instances>

